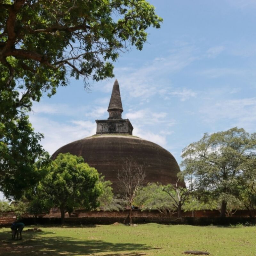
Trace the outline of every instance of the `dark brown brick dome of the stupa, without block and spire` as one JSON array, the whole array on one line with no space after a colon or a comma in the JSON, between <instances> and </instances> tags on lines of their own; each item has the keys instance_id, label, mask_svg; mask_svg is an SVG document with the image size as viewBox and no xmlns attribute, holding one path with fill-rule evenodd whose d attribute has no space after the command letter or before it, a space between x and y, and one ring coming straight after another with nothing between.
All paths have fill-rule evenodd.
<instances>
[{"instance_id":1,"label":"dark brown brick dome of the stupa, without block and spire","mask_svg":"<svg viewBox=\"0 0 256 256\"><path fill-rule=\"evenodd\" d=\"M176 183L176 175L180 172L179 165L169 151L153 142L128 134L102 134L76 140L59 148L52 155L53 158L60 153L82 156L86 163L113 183L114 192L118 192L117 172L122 169L123 161L127 157L145 165L145 184Z\"/></svg>"}]
</instances>

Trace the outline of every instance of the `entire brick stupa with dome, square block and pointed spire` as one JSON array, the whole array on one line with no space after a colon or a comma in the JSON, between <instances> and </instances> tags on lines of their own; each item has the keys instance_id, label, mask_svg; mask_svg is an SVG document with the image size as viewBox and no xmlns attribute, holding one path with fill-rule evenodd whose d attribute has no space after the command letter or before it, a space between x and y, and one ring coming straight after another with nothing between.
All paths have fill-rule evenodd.
<instances>
[{"instance_id":1,"label":"entire brick stupa with dome, square block and pointed spire","mask_svg":"<svg viewBox=\"0 0 256 256\"><path fill-rule=\"evenodd\" d=\"M52 156L70 153L82 156L84 161L96 168L110 180L113 191L118 193L117 172L127 157L145 166L148 182L176 183L179 165L172 154L156 143L132 136L132 124L122 119L122 100L117 80L114 83L108 106L107 120L96 120L96 135L71 142L59 148Z\"/></svg>"}]
</instances>

